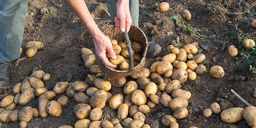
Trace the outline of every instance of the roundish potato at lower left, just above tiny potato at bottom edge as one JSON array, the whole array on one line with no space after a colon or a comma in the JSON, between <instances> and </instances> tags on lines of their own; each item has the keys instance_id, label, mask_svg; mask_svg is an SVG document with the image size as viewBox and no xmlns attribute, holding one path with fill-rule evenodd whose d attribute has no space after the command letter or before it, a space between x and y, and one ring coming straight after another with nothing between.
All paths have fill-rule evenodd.
<instances>
[{"instance_id":1,"label":"roundish potato at lower left, just above tiny potato at bottom edge","mask_svg":"<svg viewBox=\"0 0 256 128\"><path fill-rule=\"evenodd\" d=\"M25 121L25 122L29 122L33 117L33 110L31 107L24 107L21 108L20 112L19 112L19 120L20 121Z\"/></svg>"}]
</instances>

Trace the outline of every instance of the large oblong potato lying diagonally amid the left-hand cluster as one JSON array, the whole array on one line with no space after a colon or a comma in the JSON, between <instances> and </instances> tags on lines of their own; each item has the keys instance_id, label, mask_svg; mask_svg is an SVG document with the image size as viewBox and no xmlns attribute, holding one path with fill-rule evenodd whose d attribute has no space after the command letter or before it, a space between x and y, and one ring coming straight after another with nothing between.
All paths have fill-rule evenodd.
<instances>
[{"instance_id":1,"label":"large oblong potato lying diagonally amid the left-hand cluster","mask_svg":"<svg viewBox=\"0 0 256 128\"><path fill-rule=\"evenodd\" d=\"M27 88L23 93L20 94L20 97L18 99L19 104L26 105L28 102L32 101L32 99L35 98L34 92L34 88Z\"/></svg>"}]
</instances>

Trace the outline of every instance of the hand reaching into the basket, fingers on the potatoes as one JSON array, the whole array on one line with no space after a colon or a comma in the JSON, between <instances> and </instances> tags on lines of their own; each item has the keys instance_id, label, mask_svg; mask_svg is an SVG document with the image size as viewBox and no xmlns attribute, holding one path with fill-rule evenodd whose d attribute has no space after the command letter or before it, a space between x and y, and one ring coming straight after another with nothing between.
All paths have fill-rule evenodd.
<instances>
[{"instance_id":1,"label":"hand reaching into the basket, fingers on the potatoes","mask_svg":"<svg viewBox=\"0 0 256 128\"><path fill-rule=\"evenodd\" d=\"M111 40L105 36L103 33L97 35L97 37L93 38L95 52L98 57L109 67L116 67L116 65L112 64L108 61L106 52L112 59L116 59L116 53L113 50Z\"/></svg>"}]
</instances>

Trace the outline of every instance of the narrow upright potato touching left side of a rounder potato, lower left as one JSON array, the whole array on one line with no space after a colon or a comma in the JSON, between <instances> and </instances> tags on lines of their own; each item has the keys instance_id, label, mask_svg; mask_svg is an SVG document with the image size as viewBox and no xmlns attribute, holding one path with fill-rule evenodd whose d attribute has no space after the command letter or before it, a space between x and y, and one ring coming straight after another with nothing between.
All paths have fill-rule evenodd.
<instances>
[{"instance_id":1,"label":"narrow upright potato touching left side of a rounder potato, lower left","mask_svg":"<svg viewBox=\"0 0 256 128\"><path fill-rule=\"evenodd\" d=\"M39 114L42 118L46 118L48 116L47 112L47 104L49 103L49 100L46 98L40 98L38 100L38 110Z\"/></svg>"}]
</instances>

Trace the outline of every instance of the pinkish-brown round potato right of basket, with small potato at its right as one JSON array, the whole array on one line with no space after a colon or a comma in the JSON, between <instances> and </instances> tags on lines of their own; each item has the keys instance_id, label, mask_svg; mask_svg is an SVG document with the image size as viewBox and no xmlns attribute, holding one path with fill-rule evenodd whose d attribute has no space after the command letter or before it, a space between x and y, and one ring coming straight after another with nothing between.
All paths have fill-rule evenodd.
<instances>
[{"instance_id":1,"label":"pinkish-brown round potato right of basket, with small potato at its right","mask_svg":"<svg viewBox=\"0 0 256 128\"><path fill-rule=\"evenodd\" d=\"M172 73L172 79L177 79L181 83L187 81L187 72L184 69L177 69Z\"/></svg>"}]
</instances>

